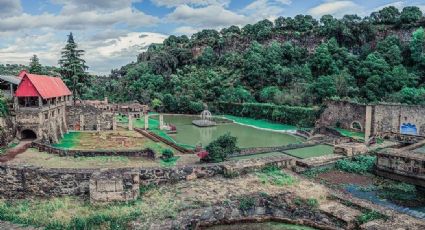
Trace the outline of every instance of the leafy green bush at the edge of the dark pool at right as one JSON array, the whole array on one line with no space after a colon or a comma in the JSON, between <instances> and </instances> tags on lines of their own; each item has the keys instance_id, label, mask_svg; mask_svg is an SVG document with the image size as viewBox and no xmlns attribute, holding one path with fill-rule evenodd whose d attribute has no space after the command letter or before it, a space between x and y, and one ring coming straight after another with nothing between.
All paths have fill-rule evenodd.
<instances>
[{"instance_id":1,"label":"leafy green bush at the edge of the dark pool at right","mask_svg":"<svg viewBox=\"0 0 425 230\"><path fill-rule=\"evenodd\" d=\"M345 172L365 174L372 171L375 165L375 160L375 156L360 155L354 157L353 160L339 160L336 162L335 167Z\"/></svg>"}]
</instances>

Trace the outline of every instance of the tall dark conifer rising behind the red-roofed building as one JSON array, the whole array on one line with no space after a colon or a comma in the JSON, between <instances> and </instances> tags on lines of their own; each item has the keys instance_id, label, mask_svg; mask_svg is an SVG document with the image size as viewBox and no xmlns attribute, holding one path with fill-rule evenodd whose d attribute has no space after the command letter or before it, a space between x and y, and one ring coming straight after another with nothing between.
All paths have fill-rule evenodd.
<instances>
[{"instance_id":1,"label":"tall dark conifer rising behind the red-roofed building","mask_svg":"<svg viewBox=\"0 0 425 230\"><path fill-rule=\"evenodd\" d=\"M83 94L84 88L89 83L86 70L88 66L82 58L84 50L78 49L72 33L68 35L67 44L62 49L59 60L60 72L65 84L71 89L75 100Z\"/></svg>"}]
</instances>

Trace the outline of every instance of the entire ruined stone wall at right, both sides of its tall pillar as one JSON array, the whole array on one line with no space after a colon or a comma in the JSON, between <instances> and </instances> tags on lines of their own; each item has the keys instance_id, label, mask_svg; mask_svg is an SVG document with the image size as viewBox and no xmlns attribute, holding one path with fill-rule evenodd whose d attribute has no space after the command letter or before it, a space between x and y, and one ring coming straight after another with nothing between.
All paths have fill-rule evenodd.
<instances>
[{"instance_id":1,"label":"entire ruined stone wall at right, both sides of its tall pillar","mask_svg":"<svg viewBox=\"0 0 425 230\"><path fill-rule=\"evenodd\" d=\"M329 101L317 127L341 127L365 133L366 140L385 134L425 136L425 106L358 104Z\"/></svg>"}]
</instances>

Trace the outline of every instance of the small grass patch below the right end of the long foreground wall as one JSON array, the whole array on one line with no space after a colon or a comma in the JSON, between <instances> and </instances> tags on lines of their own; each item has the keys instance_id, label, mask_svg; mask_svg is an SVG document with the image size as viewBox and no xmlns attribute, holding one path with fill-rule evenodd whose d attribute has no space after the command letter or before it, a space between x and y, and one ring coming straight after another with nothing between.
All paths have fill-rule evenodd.
<instances>
[{"instance_id":1,"label":"small grass patch below the right end of the long foreground wall","mask_svg":"<svg viewBox=\"0 0 425 230\"><path fill-rule=\"evenodd\" d=\"M291 175L284 173L280 168L267 166L257 173L258 179L263 184L272 184L277 186L292 185L296 182Z\"/></svg>"}]
</instances>

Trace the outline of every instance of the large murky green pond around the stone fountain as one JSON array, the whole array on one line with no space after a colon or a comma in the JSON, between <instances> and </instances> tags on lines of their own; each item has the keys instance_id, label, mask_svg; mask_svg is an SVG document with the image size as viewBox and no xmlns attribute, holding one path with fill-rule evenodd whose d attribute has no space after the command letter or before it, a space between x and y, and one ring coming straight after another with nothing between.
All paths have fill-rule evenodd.
<instances>
[{"instance_id":1,"label":"large murky green pond around the stone fountain","mask_svg":"<svg viewBox=\"0 0 425 230\"><path fill-rule=\"evenodd\" d=\"M301 143L303 138L288 133L257 129L237 123L220 123L214 127L199 128L192 125L198 116L165 115L164 121L177 128L177 134L169 134L178 144L189 146L208 145L228 132L238 138L240 148L283 146Z\"/></svg>"}]
</instances>

